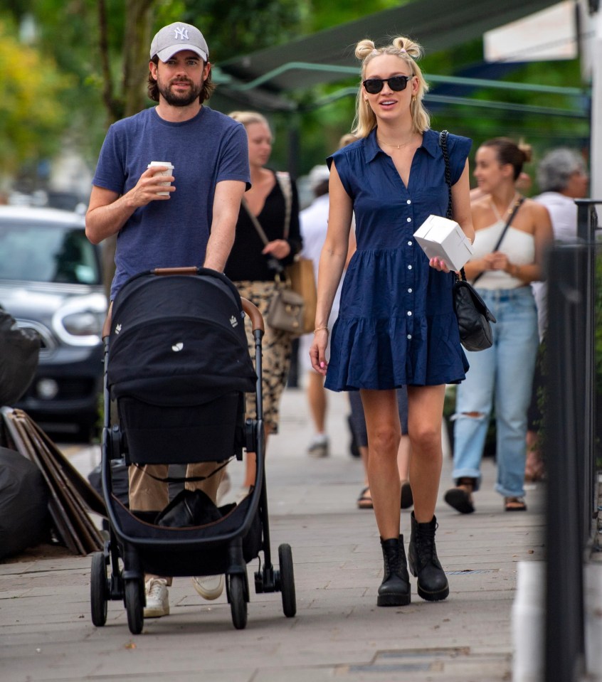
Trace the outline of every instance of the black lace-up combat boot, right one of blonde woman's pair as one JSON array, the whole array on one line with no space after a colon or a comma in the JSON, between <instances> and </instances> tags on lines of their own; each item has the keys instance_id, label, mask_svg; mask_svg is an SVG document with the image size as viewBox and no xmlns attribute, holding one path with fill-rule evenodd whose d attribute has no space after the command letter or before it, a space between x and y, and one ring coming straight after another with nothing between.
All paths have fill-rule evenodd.
<instances>
[{"instance_id":1,"label":"black lace-up combat boot, right one of blonde woman's pair","mask_svg":"<svg viewBox=\"0 0 602 682\"><path fill-rule=\"evenodd\" d=\"M438 602L450 593L448 578L437 558L436 529L437 518L435 516L431 523L418 523L412 512L408 563L412 575L418 577L418 595L428 602Z\"/></svg>"}]
</instances>

